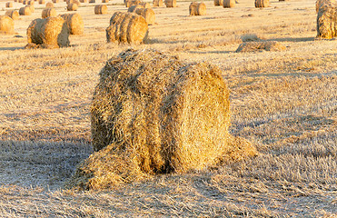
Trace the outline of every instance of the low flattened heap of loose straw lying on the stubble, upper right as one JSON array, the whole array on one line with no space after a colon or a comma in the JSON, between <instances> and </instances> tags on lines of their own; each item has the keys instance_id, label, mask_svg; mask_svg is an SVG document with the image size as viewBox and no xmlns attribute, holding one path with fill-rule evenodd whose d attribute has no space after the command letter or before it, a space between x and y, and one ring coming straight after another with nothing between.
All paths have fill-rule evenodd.
<instances>
[{"instance_id":1,"label":"low flattened heap of loose straw lying on the stubble, upper right","mask_svg":"<svg viewBox=\"0 0 337 218\"><path fill-rule=\"evenodd\" d=\"M245 42L236 49L235 52L255 52L255 51L282 51L285 49L284 45L276 41L263 41L263 42Z\"/></svg>"}]
</instances>

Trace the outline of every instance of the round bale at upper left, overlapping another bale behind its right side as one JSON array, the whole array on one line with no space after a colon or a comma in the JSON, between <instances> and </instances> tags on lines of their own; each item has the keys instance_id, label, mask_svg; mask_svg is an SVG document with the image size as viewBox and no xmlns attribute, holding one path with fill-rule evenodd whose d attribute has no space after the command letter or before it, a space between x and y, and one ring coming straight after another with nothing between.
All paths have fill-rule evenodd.
<instances>
[{"instance_id":1,"label":"round bale at upper left, overlapping another bale behind its right side","mask_svg":"<svg viewBox=\"0 0 337 218\"><path fill-rule=\"evenodd\" d=\"M27 28L29 47L58 48L69 46L69 29L61 16L37 18Z\"/></svg>"}]
</instances>

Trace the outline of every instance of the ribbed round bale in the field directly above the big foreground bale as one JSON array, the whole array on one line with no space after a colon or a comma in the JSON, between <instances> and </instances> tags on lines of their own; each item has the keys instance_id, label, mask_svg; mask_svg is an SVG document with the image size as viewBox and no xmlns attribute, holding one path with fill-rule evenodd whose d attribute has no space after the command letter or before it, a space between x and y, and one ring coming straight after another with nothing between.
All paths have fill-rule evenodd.
<instances>
[{"instance_id":1,"label":"ribbed round bale in the field directly above the big foreground bale","mask_svg":"<svg viewBox=\"0 0 337 218\"><path fill-rule=\"evenodd\" d=\"M115 12L105 31L108 43L139 44L147 39L148 25L141 15Z\"/></svg>"}]
</instances>

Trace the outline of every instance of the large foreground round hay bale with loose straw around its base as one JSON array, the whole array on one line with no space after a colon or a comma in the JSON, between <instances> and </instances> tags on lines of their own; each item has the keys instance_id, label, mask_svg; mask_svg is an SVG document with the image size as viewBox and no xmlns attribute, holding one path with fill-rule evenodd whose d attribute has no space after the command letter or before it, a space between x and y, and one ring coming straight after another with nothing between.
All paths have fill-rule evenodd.
<instances>
[{"instance_id":1,"label":"large foreground round hay bale with loose straw around its base","mask_svg":"<svg viewBox=\"0 0 337 218\"><path fill-rule=\"evenodd\" d=\"M79 164L69 184L114 188L153 173L202 170L223 156L255 155L252 144L228 134L229 104L217 66L185 64L155 50L114 56L94 91L95 153Z\"/></svg>"}]
</instances>

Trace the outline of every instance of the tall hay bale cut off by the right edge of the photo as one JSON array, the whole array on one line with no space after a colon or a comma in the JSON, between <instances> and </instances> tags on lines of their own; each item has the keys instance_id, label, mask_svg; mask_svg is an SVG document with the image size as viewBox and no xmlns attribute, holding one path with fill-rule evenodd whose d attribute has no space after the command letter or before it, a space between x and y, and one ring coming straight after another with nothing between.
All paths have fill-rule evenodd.
<instances>
[{"instance_id":1,"label":"tall hay bale cut off by the right edge of the photo","mask_svg":"<svg viewBox=\"0 0 337 218\"><path fill-rule=\"evenodd\" d=\"M326 2L317 14L317 37L331 39L337 36L337 5Z\"/></svg>"}]
</instances>

